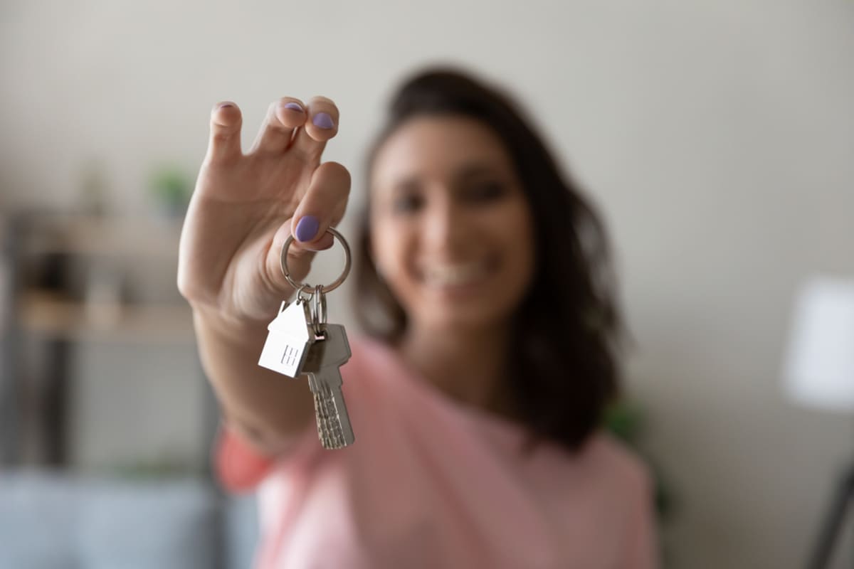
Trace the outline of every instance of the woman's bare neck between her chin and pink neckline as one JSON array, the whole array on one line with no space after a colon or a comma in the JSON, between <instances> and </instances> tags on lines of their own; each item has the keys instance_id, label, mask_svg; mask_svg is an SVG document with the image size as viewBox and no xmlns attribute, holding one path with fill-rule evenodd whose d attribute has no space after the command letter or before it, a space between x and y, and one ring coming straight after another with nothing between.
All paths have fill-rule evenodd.
<instances>
[{"instance_id":1,"label":"woman's bare neck between her chin and pink neckline","mask_svg":"<svg viewBox=\"0 0 854 569\"><path fill-rule=\"evenodd\" d=\"M509 415L509 326L453 330L411 326L398 347L407 365L448 397Z\"/></svg>"}]
</instances>

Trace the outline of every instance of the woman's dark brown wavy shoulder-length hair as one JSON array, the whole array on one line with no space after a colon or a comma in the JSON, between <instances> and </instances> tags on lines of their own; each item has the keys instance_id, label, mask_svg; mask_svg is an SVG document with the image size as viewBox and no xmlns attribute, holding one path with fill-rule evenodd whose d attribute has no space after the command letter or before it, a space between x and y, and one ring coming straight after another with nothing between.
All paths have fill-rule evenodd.
<instances>
[{"instance_id":1,"label":"woman's dark brown wavy shoulder-length hair","mask_svg":"<svg viewBox=\"0 0 854 569\"><path fill-rule=\"evenodd\" d=\"M600 427L620 383L623 325L600 216L561 173L517 103L453 68L427 69L400 86L367 156L368 177L389 135L425 115L477 119L512 157L534 221L535 276L513 316L518 357L508 362L515 405L508 418L529 427L529 448L549 439L576 450ZM407 315L371 260L369 209L368 203L357 237L356 316L366 334L394 344Z\"/></svg>"}]
</instances>

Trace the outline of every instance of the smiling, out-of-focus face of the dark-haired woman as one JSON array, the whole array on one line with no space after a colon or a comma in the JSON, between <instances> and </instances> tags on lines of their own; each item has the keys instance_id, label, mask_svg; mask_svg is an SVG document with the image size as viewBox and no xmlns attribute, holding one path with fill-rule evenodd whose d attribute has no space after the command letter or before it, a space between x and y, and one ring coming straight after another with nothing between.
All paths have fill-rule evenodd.
<instances>
[{"instance_id":1,"label":"smiling, out-of-focus face of the dark-haired woman","mask_svg":"<svg viewBox=\"0 0 854 569\"><path fill-rule=\"evenodd\" d=\"M412 325L504 324L534 273L532 220L510 156L487 126L409 119L371 167L377 271Z\"/></svg>"}]
</instances>

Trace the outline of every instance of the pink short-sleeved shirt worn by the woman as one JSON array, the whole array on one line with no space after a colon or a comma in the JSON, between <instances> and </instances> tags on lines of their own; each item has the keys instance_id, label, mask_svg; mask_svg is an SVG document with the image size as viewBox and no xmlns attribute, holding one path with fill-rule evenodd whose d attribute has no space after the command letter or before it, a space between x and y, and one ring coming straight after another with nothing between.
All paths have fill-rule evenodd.
<instances>
[{"instance_id":1,"label":"pink short-sleeved shirt worn by the woman","mask_svg":"<svg viewBox=\"0 0 854 569\"><path fill-rule=\"evenodd\" d=\"M352 446L324 450L312 427L270 462L220 438L225 485L260 482L257 567L658 566L646 469L615 440L525 456L522 427L455 403L383 345L352 344Z\"/></svg>"}]
</instances>

